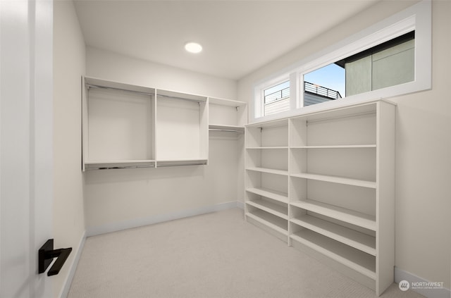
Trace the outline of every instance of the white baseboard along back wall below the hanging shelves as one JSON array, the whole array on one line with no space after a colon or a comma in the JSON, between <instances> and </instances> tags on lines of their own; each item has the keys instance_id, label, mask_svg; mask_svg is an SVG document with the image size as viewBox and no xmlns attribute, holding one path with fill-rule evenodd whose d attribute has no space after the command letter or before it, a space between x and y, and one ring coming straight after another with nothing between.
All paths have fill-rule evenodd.
<instances>
[{"instance_id":1,"label":"white baseboard along back wall below the hanging shelves","mask_svg":"<svg viewBox=\"0 0 451 298\"><path fill-rule=\"evenodd\" d=\"M165 221L173 221L175 219L197 216L214 211L221 211L237 207L237 201L228 201L226 203L216 204L212 206L205 206L197 209L190 209L174 213L162 214L157 216L150 216L147 218L136 218L130 221L121 221L118 223L110 223L107 225L99 225L97 227L87 228L87 237L106 234L107 232L117 232L120 230L127 230L130 228L138 228L144 225L152 225L154 223L163 223Z\"/></svg>"}]
</instances>

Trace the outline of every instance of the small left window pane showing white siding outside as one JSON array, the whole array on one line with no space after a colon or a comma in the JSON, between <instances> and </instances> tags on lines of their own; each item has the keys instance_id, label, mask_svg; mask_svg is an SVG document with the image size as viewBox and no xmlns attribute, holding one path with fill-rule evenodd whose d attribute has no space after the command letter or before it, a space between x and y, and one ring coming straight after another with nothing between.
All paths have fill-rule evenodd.
<instances>
[{"instance_id":1,"label":"small left window pane showing white siding outside","mask_svg":"<svg viewBox=\"0 0 451 298\"><path fill-rule=\"evenodd\" d=\"M264 90L264 115L290 110L290 81Z\"/></svg>"}]
</instances>

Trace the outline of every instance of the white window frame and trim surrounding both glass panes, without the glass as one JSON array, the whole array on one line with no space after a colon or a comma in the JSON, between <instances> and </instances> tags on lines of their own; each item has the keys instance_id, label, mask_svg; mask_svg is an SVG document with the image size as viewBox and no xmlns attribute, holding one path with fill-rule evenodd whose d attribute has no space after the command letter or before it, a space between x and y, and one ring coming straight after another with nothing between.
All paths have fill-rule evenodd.
<instances>
[{"instance_id":1,"label":"white window frame and trim surrounding both glass panes, without the glass","mask_svg":"<svg viewBox=\"0 0 451 298\"><path fill-rule=\"evenodd\" d=\"M304 107L304 75L327 66L335 61L340 61L354 54L358 54L390 39L415 31L415 58L414 58L414 80L400 85L376 89L369 92L354 94L334 101L314 104ZM249 120L260 122L277 118L286 118L302 113L305 109L314 111L326 107L340 106L369 101L379 98L390 98L431 89L431 1L424 0L414 4L403 11L395 13L385 20L367 27L351 37L333 44L317 54L304 58L295 65L266 78L254 85L254 108ZM283 80L290 79L290 111L274 113L264 116L264 89L271 85L277 85ZM259 109L259 108L260 109Z\"/></svg>"}]
</instances>

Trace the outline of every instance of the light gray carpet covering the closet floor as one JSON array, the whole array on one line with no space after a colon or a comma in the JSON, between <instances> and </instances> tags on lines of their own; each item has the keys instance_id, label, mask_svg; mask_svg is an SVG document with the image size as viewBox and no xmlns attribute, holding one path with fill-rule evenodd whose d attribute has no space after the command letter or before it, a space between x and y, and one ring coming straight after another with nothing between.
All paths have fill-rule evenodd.
<instances>
[{"instance_id":1,"label":"light gray carpet covering the closet floor","mask_svg":"<svg viewBox=\"0 0 451 298\"><path fill-rule=\"evenodd\" d=\"M87 238L68 298L376 297L230 209ZM381 296L423 297L393 284Z\"/></svg>"}]
</instances>

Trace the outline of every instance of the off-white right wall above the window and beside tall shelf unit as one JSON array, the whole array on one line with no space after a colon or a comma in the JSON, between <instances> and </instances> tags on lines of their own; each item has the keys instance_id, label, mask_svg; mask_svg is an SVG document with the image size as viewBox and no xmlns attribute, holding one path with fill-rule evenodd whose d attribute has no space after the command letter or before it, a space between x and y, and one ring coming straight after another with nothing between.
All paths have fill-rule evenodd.
<instances>
[{"instance_id":1,"label":"off-white right wall above the window and beside tall shelf unit","mask_svg":"<svg viewBox=\"0 0 451 298\"><path fill-rule=\"evenodd\" d=\"M293 49L238 82L238 100L251 101L253 87L316 51L412 5L382 1ZM449 71L451 2L433 1L433 89L397 102L395 266L450 288L451 101ZM448 84L447 84L448 82ZM249 110L249 113L253 111Z\"/></svg>"}]
</instances>

